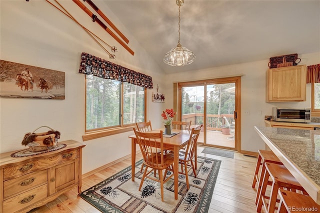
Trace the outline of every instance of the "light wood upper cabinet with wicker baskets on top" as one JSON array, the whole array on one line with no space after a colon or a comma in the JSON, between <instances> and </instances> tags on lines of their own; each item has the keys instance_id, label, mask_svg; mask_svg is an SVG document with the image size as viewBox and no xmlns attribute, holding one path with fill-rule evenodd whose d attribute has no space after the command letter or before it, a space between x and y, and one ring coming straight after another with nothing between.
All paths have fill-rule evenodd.
<instances>
[{"instance_id":1,"label":"light wood upper cabinet with wicker baskets on top","mask_svg":"<svg viewBox=\"0 0 320 213\"><path fill-rule=\"evenodd\" d=\"M266 102L305 101L306 65L266 71Z\"/></svg>"}]
</instances>

